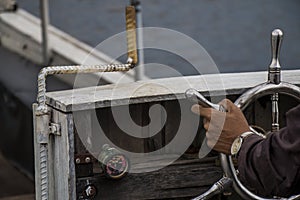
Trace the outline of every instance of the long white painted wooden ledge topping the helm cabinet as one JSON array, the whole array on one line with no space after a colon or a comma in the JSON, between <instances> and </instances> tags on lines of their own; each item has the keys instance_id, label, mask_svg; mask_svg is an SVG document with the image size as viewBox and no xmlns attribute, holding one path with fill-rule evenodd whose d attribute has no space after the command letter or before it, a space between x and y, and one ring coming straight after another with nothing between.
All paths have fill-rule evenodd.
<instances>
[{"instance_id":1,"label":"long white painted wooden ledge topping the helm cabinet","mask_svg":"<svg viewBox=\"0 0 300 200\"><path fill-rule=\"evenodd\" d=\"M300 70L282 72L282 80L300 85ZM267 80L267 72L210 74L174 77L125 84L111 84L75 90L49 92L47 103L65 112L131 103L185 98L188 88L195 88L205 95L220 96L240 94Z\"/></svg>"}]
</instances>

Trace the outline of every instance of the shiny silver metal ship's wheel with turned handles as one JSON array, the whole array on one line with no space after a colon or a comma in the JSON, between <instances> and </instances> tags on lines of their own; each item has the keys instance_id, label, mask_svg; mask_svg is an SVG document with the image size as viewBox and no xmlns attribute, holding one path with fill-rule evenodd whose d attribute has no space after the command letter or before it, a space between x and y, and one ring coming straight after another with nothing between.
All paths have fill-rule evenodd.
<instances>
[{"instance_id":1,"label":"shiny silver metal ship's wheel with turned handles","mask_svg":"<svg viewBox=\"0 0 300 200\"><path fill-rule=\"evenodd\" d=\"M283 38L283 33L280 29L275 29L271 35L271 45L272 45L272 61L268 69L268 80L265 83L259 84L256 87L248 90L242 94L236 101L235 105L238 106L242 111L245 111L249 106L251 106L259 98L264 98L269 96L271 103L271 130L276 132L280 128L279 123L279 97L281 95L286 95L294 98L296 101L300 102L300 88L296 85L281 81L281 67L279 64L279 50ZM197 91L188 90L186 92L187 98L190 100L201 104L202 106L212 107L221 110L220 106L208 102L201 94ZM222 110L221 110L222 111ZM274 133L276 134L276 133ZM270 199L300 199L300 195L295 195L289 198L264 198L261 197L247 187L245 187L238 178L238 171L234 165L233 159L230 155L220 154L221 165L224 172L224 177L216 182L210 190L204 194L194 198L194 200L209 199L213 195L223 192L227 187L233 185L235 191L243 199L257 199L257 200L270 200Z\"/></svg>"}]
</instances>

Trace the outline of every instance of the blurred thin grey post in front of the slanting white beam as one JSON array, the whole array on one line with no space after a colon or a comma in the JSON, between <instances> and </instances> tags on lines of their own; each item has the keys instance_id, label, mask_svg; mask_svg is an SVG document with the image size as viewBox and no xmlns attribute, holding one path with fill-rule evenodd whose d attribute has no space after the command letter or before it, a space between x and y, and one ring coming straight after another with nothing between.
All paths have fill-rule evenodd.
<instances>
[{"instance_id":1,"label":"blurred thin grey post in front of the slanting white beam","mask_svg":"<svg viewBox=\"0 0 300 200\"><path fill-rule=\"evenodd\" d=\"M41 31L42 31L43 64L47 66L50 61L50 49L49 49L49 40L48 40L48 25L49 25L48 0L40 0L40 15L41 15Z\"/></svg>"}]
</instances>

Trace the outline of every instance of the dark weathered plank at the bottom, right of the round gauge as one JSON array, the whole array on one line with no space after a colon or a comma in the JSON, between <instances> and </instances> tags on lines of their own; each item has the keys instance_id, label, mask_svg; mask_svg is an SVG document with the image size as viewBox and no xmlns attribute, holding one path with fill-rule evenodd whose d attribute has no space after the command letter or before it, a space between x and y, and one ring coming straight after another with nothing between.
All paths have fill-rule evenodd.
<instances>
[{"instance_id":1,"label":"dark weathered plank at the bottom, right of the round gauge","mask_svg":"<svg viewBox=\"0 0 300 200\"><path fill-rule=\"evenodd\" d=\"M148 164L162 161L156 157ZM215 166L214 159L197 159L189 163L178 161L154 172L128 174L117 181L100 175L94 177L94 184L99 199L190 199L221 177L221 168Z\"/></svg>"}]
</instances>

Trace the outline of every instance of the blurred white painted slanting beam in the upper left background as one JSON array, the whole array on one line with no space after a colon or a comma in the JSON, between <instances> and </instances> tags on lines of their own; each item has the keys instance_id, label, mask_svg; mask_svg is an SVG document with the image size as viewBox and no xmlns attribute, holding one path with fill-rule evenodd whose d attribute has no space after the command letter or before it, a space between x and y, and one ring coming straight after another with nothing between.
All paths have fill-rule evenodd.
<instances>
[{"instance_id":1,"label":"blurred white painted slanting beam in the upper left background","mask_svg":"<svg viewBox=\"0 0 300 200\"><path fill-rule=\"evenodd\" d=\"M44 67L41 64L41 27L38 18L22 9L13 13L2 13L0 15L0 33L1 44L4 47L41 65L41 68ZM53 26L49 26L49 46L54 56L52 65L82 64L88 55L89 59L84 62L85 65L118 63ZM105 73L101 77L107 83L134 81L133 71L125 75L121 72ZM59 76L59 78L73 84L73 79L70 80L70 77ZM89 76L91 83L95 83L99 78L99 73Z\"/></svg>"}]
</instances>

